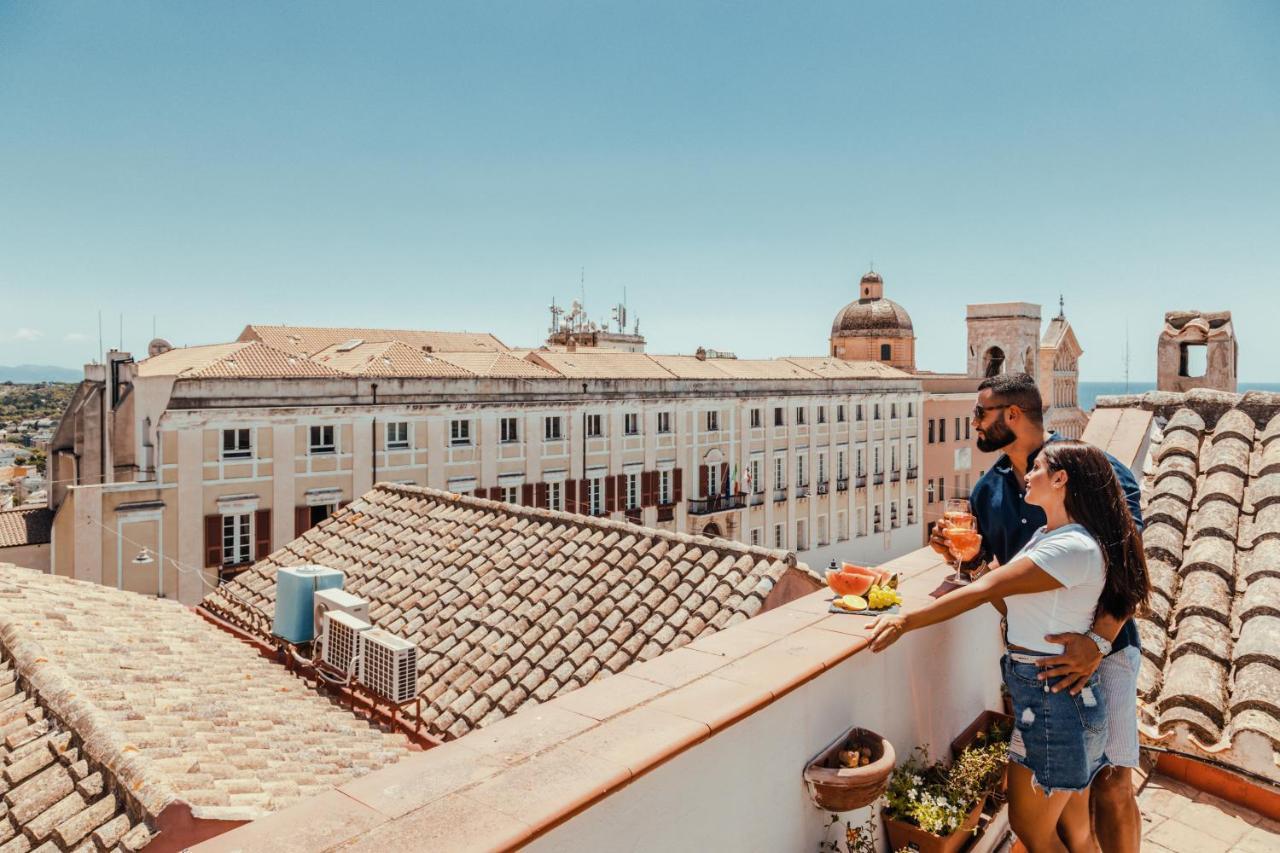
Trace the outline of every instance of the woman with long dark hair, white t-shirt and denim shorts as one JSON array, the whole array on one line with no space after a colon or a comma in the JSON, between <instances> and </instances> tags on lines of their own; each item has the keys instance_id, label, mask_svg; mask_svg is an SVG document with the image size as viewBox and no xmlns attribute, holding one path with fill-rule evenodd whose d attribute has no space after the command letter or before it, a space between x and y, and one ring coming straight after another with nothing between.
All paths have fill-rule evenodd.
<instances>
[{"instance_id":1,"label":"woman with long dark hair, white t-shirt and denim shorts","mask_svg":"<svg viewBox=\"0 0 1280 853\"><path fill-rule=\"evenodd\" d=\"M1046 443L1027 471L1025 501L1044 510L1047 524L1012 560L923 607L881 616L869 625L872 649L983 603L1005 611L1010 825L1030 853L1093 852L1088 788L1107 763L1106 698L1097 674L1075 695L1055 693L1037 679L1036 660L1061 652L1046 634L1084 633L1100 607L1128 617L1144 606L1147 561L1111 462L1091 444Z\"/></svg>"}]
</instances>

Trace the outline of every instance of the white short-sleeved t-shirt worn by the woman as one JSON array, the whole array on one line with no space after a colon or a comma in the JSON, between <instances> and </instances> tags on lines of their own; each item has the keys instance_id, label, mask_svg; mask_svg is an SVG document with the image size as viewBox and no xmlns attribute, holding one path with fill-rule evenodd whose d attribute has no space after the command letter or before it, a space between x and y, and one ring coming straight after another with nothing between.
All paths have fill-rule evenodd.
<instances>
[{"instance_id":1,"label":"white short-sleeved t-shirt worn by the woman","mask_svg":"<svg viewBox=\"0 0 1280 853\"><path fill-rule=\"evenodd\" d=\"M1062 647L1046 643L1046 634L1083 634L1093 626L1098 596L1106 581L1102 548L1079 524L1037 530L1014 560L1030 557L1061 585L1050 592L1010 596L1009 642L1036 652L1059 653ZM997 570L998 571L998 570Z\"/></svg>"}]
</instances>

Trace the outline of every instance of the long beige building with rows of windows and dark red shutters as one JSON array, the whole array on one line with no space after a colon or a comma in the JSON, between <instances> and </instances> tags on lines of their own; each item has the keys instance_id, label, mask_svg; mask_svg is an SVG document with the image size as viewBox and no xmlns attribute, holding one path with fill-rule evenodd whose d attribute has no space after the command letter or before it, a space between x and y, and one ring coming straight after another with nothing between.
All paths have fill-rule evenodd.
<instances>
[{"instance_id":1,"label":"long beige building with rows of windows and dark red shutters","mask_svg":"<svg viewBox=\"0 0 1280 853\"><path fill-rule=\"evenodd\" d=\"M920 383L876 362L248 327L86 368L52 571L198 601L374 483L878 562L920 540Z\"/></svg>"}]
</instances>

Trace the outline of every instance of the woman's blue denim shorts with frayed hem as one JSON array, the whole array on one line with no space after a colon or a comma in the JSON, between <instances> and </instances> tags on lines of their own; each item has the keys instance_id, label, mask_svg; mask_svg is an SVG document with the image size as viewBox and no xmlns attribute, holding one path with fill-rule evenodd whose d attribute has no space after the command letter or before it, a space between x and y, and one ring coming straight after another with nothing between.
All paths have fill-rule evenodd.
<instances>
[{"instance_id":1,"label":"woman's blue denim shorts with frayed hem","mask_svg":"<svg viewBox=\"0 0 1280 853\"><path fill-rule=\"evenodd\" d=\"M1014 704L1009 760L1032 771L1046 793L1084 790L1107 763L1107 703L1097 672L1080 690L1053 693L1036 680L1038 654L1009 652L1001 660Z\"/></svg>"}]
</instances>

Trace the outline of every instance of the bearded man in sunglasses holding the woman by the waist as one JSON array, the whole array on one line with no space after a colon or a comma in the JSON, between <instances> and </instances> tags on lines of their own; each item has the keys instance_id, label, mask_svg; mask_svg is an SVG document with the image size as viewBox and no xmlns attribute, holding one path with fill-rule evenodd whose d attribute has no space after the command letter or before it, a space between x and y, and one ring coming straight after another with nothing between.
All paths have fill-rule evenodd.
<instances>
[{"instance_id":1,"label":"bearded man in sunglasses holding the woman by the waist","mask_svg":"<svg viewBox=\"0 0 1280 853\"><path fill-rule=\"evenodd\" d=\"M1044 511L1024 501L1027 470L1044 446L1043 405L1036 380L1025 373L984 379L978 386L973 426L978 450L1004 451L969 496L983 552L966 567L980 571L983 566L1007 562L1044 525ZM1120 460L1111 455L1107 459L1140 532L1138 482ZM950 553L946 538L937 529L929 544L942 555ZM1044 639L1064 647L1061 654L1039 662L1043 667L1039 678L1050 680L1053 690L1078 693L1094 671L1102 679L1108 719L1106 753L1111 766L1094 779L1089 806L1102 850L1137 853L1142 815L1133 793L1132 768L1138 766L1138 628L1133 620L1121 621L1100 610L1088 634L1050 634Z\"/></svg>"}]
</instances>

